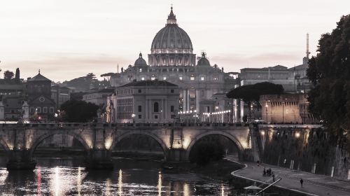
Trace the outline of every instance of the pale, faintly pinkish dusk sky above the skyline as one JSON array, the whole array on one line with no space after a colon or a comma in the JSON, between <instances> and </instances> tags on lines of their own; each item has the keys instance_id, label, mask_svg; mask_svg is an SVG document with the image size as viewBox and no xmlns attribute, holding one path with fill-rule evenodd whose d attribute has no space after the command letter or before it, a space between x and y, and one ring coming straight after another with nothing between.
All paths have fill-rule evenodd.
<instances>
[{"instance_id":1,"label":"pale, faintly pinkish dusk sky above the skyline","mask_svg":"<svg viewBox=\"0 0 350 196\"><path fill-rule=\"evenodd\" d=\"M302 63L306 34L316 54L321 34L350 14L349 0L1 0L0 77L38 69L55 81L116 72L134 64L165 27L170 6L190 36L225 71Z\"/></svg>"}]
</instances>

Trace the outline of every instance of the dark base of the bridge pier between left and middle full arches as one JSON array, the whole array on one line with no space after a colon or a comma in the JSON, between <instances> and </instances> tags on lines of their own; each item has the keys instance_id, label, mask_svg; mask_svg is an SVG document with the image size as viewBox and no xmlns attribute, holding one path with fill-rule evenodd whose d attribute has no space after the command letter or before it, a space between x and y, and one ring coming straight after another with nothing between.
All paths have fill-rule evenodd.
<instances>
[{"instance_id":1,"label":"dark base of the bridge pier between left and middle full arches","mask_svg":"<svg viewBox=\"0 0 350 196\"><path fill-rule=\"evenodd\" d=\"M91 149L85 161L86 169L113 169L111 151Z\"/></svg>"}]
</instances>

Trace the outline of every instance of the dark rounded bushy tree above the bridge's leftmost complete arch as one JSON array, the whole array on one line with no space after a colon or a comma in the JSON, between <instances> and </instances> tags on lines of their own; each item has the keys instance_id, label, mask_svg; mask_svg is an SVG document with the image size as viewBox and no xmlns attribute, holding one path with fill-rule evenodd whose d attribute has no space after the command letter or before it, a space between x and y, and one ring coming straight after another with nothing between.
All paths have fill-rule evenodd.
<instances>
[{"instance_id":1,"label":"dark rounded bushy tree above the bridge's leftmost complete arch","mask_svg":"<svg viewBox=\"0 0 350 196\"><path fill-rule=\"evenodd\" d=\"M99 106L83 101L70 100L61 105L62 119L66 122L85 123L97 117Z\"/></svg>"}]
</instances>

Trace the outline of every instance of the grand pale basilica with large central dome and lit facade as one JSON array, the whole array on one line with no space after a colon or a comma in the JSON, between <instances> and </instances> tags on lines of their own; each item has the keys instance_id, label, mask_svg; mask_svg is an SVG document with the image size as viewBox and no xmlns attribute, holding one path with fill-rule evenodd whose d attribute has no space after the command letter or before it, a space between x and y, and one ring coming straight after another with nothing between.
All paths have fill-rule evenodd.
<instances>
[{"instance_id":1,"label":"grand pale basilica with large central dome and lit facade","mask_svg":"<svg viewBox=\"0 0 350 196\"><path fill-rule=\"evenodd\" d=\"M190 36L179 27L171 8L167 24L153 38L148 64L140 52L134 65L121 69L111 78L111 85L119 87L134 80L167 80L179 86L177 113L195 111L201 116L233 109L233 103L216 100L224 99L225 93L237 85L237 76L238 73L225 73L216 64L212 66L205 52L196 59Z\"/></svg>"}]
</instances>

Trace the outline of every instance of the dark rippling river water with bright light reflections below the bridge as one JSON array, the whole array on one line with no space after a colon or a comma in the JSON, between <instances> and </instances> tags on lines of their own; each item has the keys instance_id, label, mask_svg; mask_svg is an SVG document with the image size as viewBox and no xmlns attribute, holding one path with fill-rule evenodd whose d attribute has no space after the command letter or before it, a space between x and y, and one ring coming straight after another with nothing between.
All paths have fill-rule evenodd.
<instances>
[{"instance_id":1,"label":"dark rippling river water with bright light reflections below the bridge","mask_svg":"<svg viewBox=\"0 0 350 196\"><path fill-rule=\"evenodd\" d=\"M34 171L8 172L0 195L228 195L228 184L197 174L171 174L160 162L115 160L113 171L85 171L81 160L36 158Z\"/></svg>"}]
</instances>

